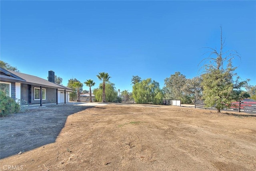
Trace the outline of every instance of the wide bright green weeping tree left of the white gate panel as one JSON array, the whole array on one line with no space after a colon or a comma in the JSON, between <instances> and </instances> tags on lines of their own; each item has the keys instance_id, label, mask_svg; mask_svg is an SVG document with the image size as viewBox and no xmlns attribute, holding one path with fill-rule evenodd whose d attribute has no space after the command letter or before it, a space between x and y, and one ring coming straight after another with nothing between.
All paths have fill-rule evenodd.
<instances>
[{"instance_id":1,"label":"wide bright green weeping tree left of the white gate panel","mask_svg":"<svg viewBox=\"0 0 256 171\"><path fill-rule=\"evenodd\" d=\"M151 78L137 82L132 86L132 95L136 103L162 104L163 93L159 83Z\"/></svg>"}]
</instances>

